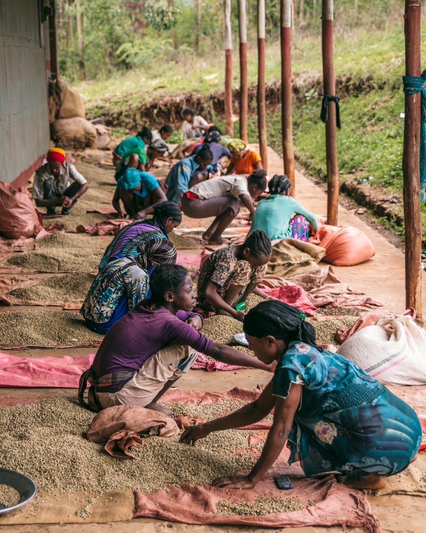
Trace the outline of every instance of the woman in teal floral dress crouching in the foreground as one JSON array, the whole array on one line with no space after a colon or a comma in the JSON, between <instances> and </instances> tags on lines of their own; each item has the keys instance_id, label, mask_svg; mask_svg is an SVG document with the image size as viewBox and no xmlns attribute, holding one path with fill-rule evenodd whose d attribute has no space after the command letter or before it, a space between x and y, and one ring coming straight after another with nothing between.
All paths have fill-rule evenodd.
<instances>
[{"instance_id":1,"label":"woman in teal floral dress crouching in the foreground","mask_svg":"<svg viewBox=\"0 0 426 533\"><path fill-rule=\"evenodd\" d=\"M353 362L318 348L313 326L296 308L261 302L243 329L260 361L277 362L272 381L234 413L188 427L181 441L255 424L273 409L274 419L250 474L218 478L213 486L252 489L285 443L289 463L300 461L306 475L338 471L357 489L383 488L414 460L422 429L413 409Z\"/></svg>"}]
</instances>

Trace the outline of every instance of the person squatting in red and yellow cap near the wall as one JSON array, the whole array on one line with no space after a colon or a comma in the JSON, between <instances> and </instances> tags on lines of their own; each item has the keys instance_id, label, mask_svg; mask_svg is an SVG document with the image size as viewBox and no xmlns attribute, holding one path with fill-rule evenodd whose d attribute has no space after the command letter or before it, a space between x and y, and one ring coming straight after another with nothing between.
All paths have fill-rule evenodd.
<instances>
[{"instance_id":1,"label":"person squatting in red and yellow cap near the wall","mask_svg":"<svg viewBox=\"0 0 426 533\"><path fill-rule=\"evenodd\" d=\"M62 206L61 215L69 215L77 198L88 188L85 177L74 165L65 162L64 150L51 148L47 151L47 163L36 171L31 197L37 207L47 208L47 215L55 215L57 205Z\"/></svg>"}]
</instances>

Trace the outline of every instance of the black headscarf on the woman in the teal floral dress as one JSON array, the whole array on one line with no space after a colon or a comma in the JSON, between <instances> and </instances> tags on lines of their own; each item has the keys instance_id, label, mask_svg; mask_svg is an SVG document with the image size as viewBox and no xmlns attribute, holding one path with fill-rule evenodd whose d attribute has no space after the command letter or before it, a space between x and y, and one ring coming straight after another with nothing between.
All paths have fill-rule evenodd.
<instances>
[{"instance_id":1,"label":"black headscarf on the woman in the teal floral dress","mask_svg":"<svg viewBox=\"0 0 426 533\"><path fill-rule=\"evenodd\" d=\"M253 337L272 335L276 339L302 341L316 346L315 329L298 309L279 300L260 302L245 315L244 333Z\"/></svg>"}]
</instances>

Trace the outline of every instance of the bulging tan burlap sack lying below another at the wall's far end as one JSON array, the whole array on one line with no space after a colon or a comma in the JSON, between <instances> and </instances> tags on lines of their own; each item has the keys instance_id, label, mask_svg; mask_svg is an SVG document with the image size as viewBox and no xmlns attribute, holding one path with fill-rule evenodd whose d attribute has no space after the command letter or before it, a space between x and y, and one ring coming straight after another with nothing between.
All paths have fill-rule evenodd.
<instances>
[{"instance_id":1,"label":"bulging tan burlap sack lying below another at the wall's far end","mask_svg":"<svg viewBox=\"0 0 426 533\"><path fill-rule=\"evenodd\" d=\"M63 118L51 126L52 139L64 150L92 148L96 145L96 128L84 118Z\"/></svg>"}]
</instances>

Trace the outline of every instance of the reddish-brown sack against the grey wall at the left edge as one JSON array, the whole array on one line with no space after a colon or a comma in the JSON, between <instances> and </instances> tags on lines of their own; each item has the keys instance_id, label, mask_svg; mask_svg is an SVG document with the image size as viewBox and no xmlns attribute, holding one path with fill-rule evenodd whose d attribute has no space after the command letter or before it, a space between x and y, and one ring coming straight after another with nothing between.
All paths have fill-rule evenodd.
<instances>
[{"instance_id":1,"label":"reddish-brown sack against the grey wall at the left edge","mask_svg":"<svg viewBox=\"0 0 426 533\"><path fill-rule=\"evenodd\" d=\"M0 183L0 235L6 239L35 237L42 229L26 189Z\"/></svg>"}]
</instances>

